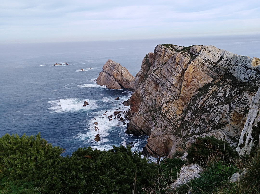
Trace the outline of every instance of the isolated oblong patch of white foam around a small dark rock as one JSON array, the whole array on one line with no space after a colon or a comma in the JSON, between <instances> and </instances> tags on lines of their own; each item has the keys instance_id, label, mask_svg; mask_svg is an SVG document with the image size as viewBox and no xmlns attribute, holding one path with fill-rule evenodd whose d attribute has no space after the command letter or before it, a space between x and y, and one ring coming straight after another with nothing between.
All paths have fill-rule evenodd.
<instances>
[{"instance_id":1,"label":"isolated oblong patch of white foam around a small dark rock","mask_svg":"<svg viewBox=\"0 0 260 194\"><path fill-rule=\"evenodd\" d=\"M60 112L86 111L86 110L93 110L96 108L96 101L87 100L89 105L83 106L84 101L85 99L80 100L78 98L51 100L48 101L48 103L51 104L51 107L48 109L52 110L52 112L54 113L60 113Z\"/></svg>"}]
</instances>

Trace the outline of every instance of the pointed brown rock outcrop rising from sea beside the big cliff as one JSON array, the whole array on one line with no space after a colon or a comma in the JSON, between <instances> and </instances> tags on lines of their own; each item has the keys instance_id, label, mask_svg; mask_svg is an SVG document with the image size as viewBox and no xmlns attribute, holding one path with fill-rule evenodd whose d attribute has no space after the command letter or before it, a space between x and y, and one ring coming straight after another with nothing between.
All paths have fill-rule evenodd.
<instances>
[{"instance_id":1,"label":"pointed brown rock outcrop rising from sea beside the big cliff","mask_svg":"<svg viewBox=\"0 0 260 194\"><path fill-rule=\"evenodd\" d=\"M125 67L108 59L103 66L103 71L99 73L96 83L101 86L105 85L109 89L133 89L134 77Z\"/></svg>"}]
</instances>

